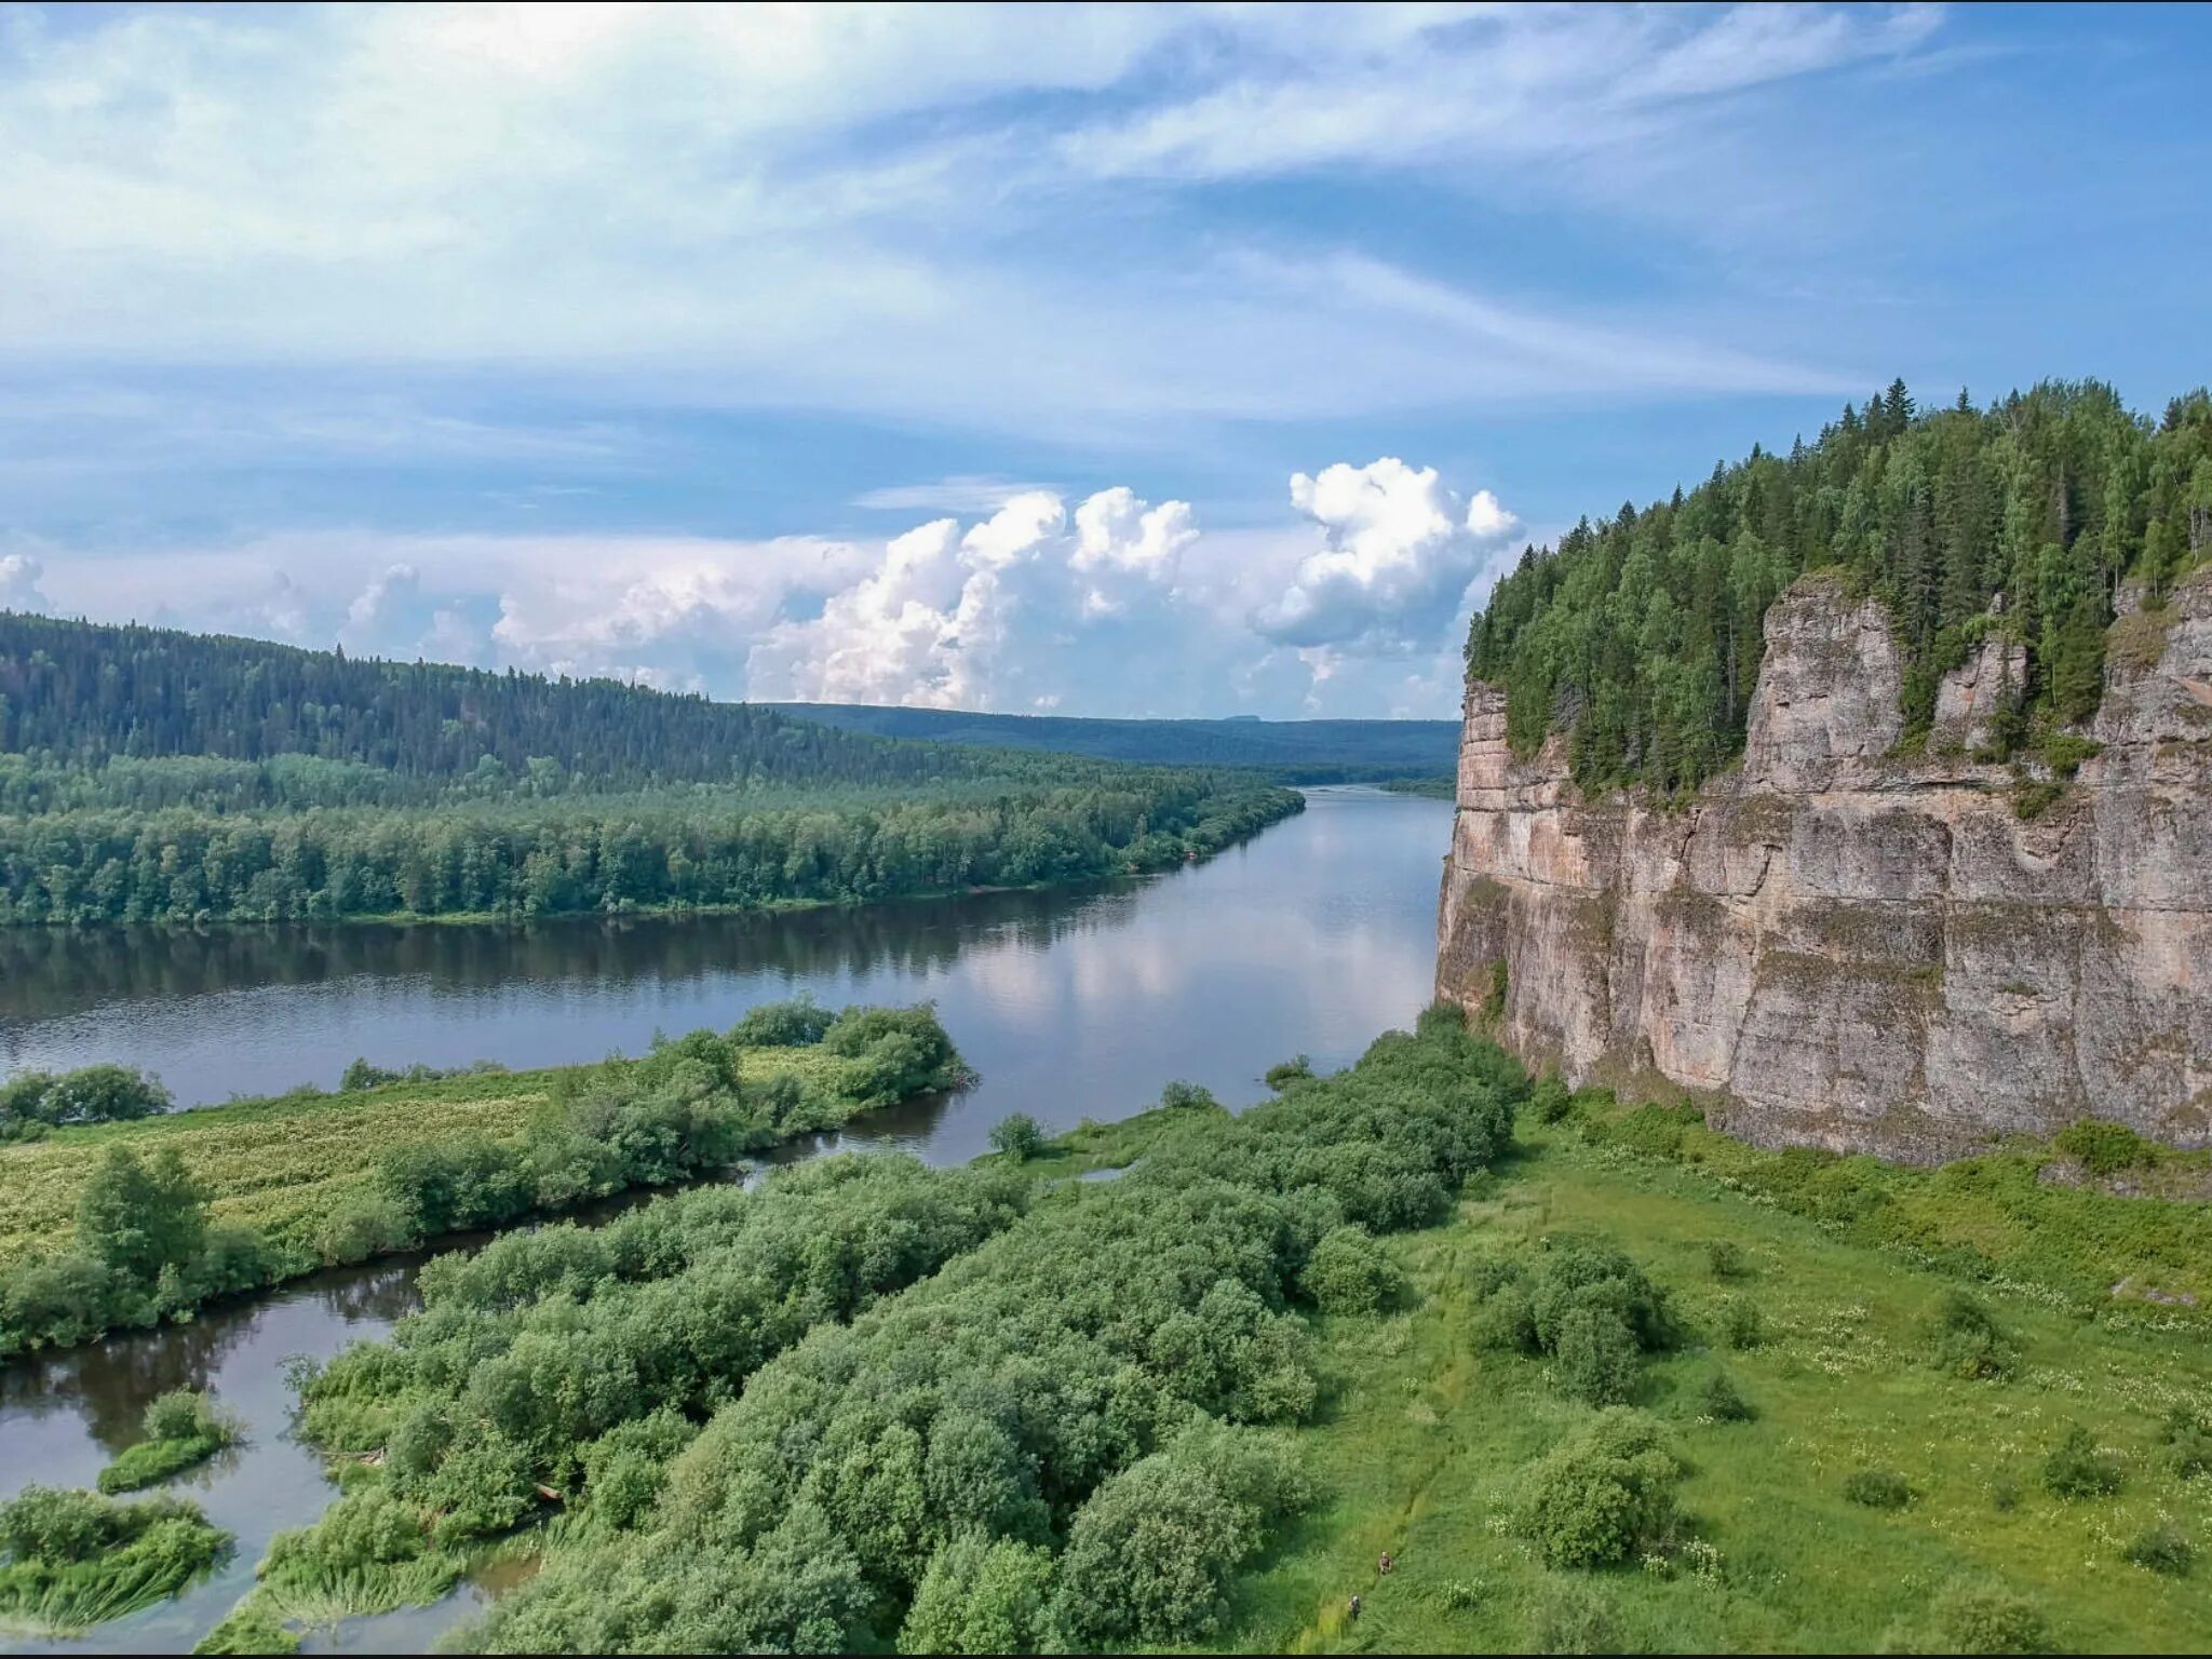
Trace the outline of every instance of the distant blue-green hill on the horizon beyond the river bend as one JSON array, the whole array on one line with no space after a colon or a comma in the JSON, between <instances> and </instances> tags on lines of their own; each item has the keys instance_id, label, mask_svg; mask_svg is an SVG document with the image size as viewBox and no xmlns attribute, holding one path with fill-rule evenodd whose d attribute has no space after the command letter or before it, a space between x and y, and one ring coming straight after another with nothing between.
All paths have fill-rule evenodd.
<instances>
[{"instance_id":1,"label":"distant blue-green hill on the horizon beyond the river bend","mask_svg":"<svg viewBox=\"0 0 2212 1659\"><path fill-rule=\"evenodd\" d=\"M1460 757L1458 721L1108 721L1062 714L969 714L867 703L761 703L845 732L971 748L1051 750L1150 765L1248 765L1285 783L1442 776Z\"/></svg>"}]
</instances>

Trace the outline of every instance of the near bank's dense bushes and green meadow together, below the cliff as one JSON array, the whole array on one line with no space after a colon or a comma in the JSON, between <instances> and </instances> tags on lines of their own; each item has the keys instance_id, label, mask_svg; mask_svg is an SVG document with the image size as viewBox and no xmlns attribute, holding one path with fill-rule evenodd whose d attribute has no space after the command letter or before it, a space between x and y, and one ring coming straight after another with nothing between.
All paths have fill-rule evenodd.
<instances>
[{"instance_id":1,"label":"near bank's dense bushes and green meadow together, below the cliff","mask_svg":"<svg viewBox=\"0 0 2212 1659\"><path fill-rule=\"evenodd\" d=\"M843 1046L914 1035L772 1004L608 1077L821 1062L856 1018ZM456 1650L2035 1652L2212 1619L2212 1210L2154 1197L2201 1157L2101 1124L1936 1170L1761 1150L1531 1079L1447 1006L1267 1082L434 1256L420 1312L299 1374L338 1495L201 1650L509 1559ZM217 1416L157 1407L150 1447ZM173 1593L221 1542L155 1502ZM75 1573L49 1606L82 1628L104 1568L0 1522L0 1595Z\"/></svg>"}]
</instances>

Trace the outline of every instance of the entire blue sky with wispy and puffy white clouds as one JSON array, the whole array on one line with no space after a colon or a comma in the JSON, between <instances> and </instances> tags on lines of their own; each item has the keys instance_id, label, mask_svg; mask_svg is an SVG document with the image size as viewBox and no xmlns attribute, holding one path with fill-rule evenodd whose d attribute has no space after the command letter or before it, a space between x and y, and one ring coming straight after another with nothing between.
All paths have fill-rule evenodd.
<instances>
[{"instance_id":1,"label":"entire blue sky with wispy and puffy white clouds","mask_svg":"<svg viewBox=\"0 0 2212 1659\"><path fill-rule=\"evenodd\" d=\"M2212 378L2208 77L2194 7L0 7L0 608L1449 717L1584 513Z\"/></svg>"}]
</instances>

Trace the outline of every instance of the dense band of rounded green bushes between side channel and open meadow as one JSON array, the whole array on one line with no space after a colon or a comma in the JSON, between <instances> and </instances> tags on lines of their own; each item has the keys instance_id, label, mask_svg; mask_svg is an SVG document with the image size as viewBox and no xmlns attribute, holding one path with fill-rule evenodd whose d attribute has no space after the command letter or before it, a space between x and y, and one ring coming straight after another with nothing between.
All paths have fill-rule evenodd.
<instances>
[{"instance_id":1,"label":"dense band of rounded green bushes between side channel and open meadow","mask_svg":"<svg viewBox=\"0 0 2212 1659\"><path fill-rule=\"evenodd\" d=\"M332 1363L303 1429L385 1444L378 1484L409 1502L465 1429L571 1493L544 1571L473 1632L489 1650L982 1644L1040 1604L1055 1641L1190 1639L1307 1502L1265 1433L1318 1394L1305 1270L1338 1228L1444 1214L1524 1091L1438 1018L1241 1117L1170 1091L1126 1177L1026 1212L998 1159L825 1159L500 1239L431 1263L425 1310ZM599 1524L577 1447L664 1407L706 1429L657 1491L655 1453L624 1462L622 1526Z\"/></svg>"}]
</instances>

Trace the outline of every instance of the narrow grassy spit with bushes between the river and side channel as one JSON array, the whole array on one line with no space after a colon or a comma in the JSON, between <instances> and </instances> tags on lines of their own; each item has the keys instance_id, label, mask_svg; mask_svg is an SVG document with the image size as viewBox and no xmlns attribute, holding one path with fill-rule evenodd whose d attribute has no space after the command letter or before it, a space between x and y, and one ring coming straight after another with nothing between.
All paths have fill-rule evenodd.
<instances>
[{"instance_id":1,"label":"narrow grassy spit with bushes between the river and side channel","mask_svg":"<svg viewBox=\"0 0 2212 1659\"><path fill-rule=\"evenodd\" d=\"M117 1068L124 1082L142 1082ZM936 1013L812 1002L728 1033L531 1073L385 1073L184 1113L139 1091L18 1079L33 1108L122 1099L117 1121L15 1121L0 1141L0 1356L71 1347L442 1237L675 1186L748 1152L958 1086Z\"/></svg>"}]
</instances>

